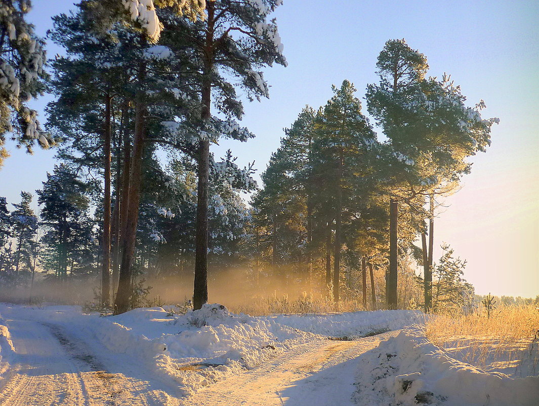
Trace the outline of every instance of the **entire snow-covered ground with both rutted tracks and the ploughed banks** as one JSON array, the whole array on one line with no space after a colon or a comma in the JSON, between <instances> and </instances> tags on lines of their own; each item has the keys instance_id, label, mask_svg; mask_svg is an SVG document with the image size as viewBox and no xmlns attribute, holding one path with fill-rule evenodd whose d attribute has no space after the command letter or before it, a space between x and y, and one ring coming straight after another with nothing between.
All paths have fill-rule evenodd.
<instances>
[{"instance_id":1,"label":"entire snow-covered ground with both rutted tracks and the ploughed banks","mask_svg":"<svg viewBox=\"0 0 539 406\"><path fill-rule=\"evenodd\" d=\"M0 314L2 406L526 405L539 390L539 378L453 360L418 328L399 334L423 318L407 310L251 317L207 305L100 317L2 304Z\"/></svg>"}]
</instances>

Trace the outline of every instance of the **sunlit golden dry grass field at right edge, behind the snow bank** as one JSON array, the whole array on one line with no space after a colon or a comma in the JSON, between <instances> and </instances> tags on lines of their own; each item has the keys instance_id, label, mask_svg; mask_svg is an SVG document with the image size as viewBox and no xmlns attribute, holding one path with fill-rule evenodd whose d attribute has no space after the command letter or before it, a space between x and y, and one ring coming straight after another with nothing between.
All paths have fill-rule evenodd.
<instances>
[{"instance_id":1,"label":"sunlit golden dry grass field at right edge, behind the snow bank","mask_svg":"<svg viewBox=\"0 0 539 406\"><path fill-rule=\"evenodd\" d=\"M442 314L426 323L426 335L461 361L512 375L536 375L539 310L498 307L469 315Z\"/></svg>"}]
</instances>

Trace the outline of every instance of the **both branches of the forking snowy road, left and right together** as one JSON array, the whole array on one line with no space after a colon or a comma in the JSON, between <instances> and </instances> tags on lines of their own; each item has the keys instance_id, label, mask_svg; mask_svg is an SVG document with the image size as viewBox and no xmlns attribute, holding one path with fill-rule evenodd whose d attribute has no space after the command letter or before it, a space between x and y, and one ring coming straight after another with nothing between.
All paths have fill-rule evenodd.
<instances>
[{"instance_id":1,"label":"both branches of the forking snowy road, left and right together","mask_svg":"<svg viewBox=\"0 0 539 406\"><path fill-rule=\"evenodd\" d=\"M137 357L103 348L84 324L40 314L2 309L16 354L0 380L0 406L346 406L357 357L397 334L301 344L185 398Z\"/></svg>"}]
</instances>

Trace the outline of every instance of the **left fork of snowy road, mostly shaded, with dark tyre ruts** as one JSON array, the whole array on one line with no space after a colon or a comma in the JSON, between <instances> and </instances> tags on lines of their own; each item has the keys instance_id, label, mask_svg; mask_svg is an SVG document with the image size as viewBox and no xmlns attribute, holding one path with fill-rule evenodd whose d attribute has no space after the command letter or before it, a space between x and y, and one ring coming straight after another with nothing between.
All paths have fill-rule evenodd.
<instances>
[{"instance_id":1,"label":"left fork of snowy road, mostly shaded, with dark tyre ruts","mask_svg":"<svg viewBox=\"0 0 539 406\"><path fill-rule=\"evenodd\" d=\"M0 381L1 406L182 404L170 395L173 388L149 382L140 366L92 348L91 340L74 336L61 324L3 315L17 355Z\"/></svg>"}]
</instances>

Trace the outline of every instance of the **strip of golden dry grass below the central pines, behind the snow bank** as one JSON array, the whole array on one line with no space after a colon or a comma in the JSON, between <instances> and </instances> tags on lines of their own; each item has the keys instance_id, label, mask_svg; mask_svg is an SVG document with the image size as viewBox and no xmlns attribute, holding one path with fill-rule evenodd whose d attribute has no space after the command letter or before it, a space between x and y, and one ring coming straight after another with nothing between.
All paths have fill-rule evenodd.
<instances>
[{"instance_id":1,"label":"strip of golden dry grass below the central pines, behind the snow bank","mask_svg":"<svg viewBox=\"0 0 539 406\"><path fill-rule=\"evenodd\" d=\"M247 303L227 306L233 313L245 313L251 316L267 316L278 313L331 313L356 312L364 310L357 300L341 300L338 309L333 297L307 294L303 292L297 299L288 295L255 296Z\"/></svg>"}]
</instances>

